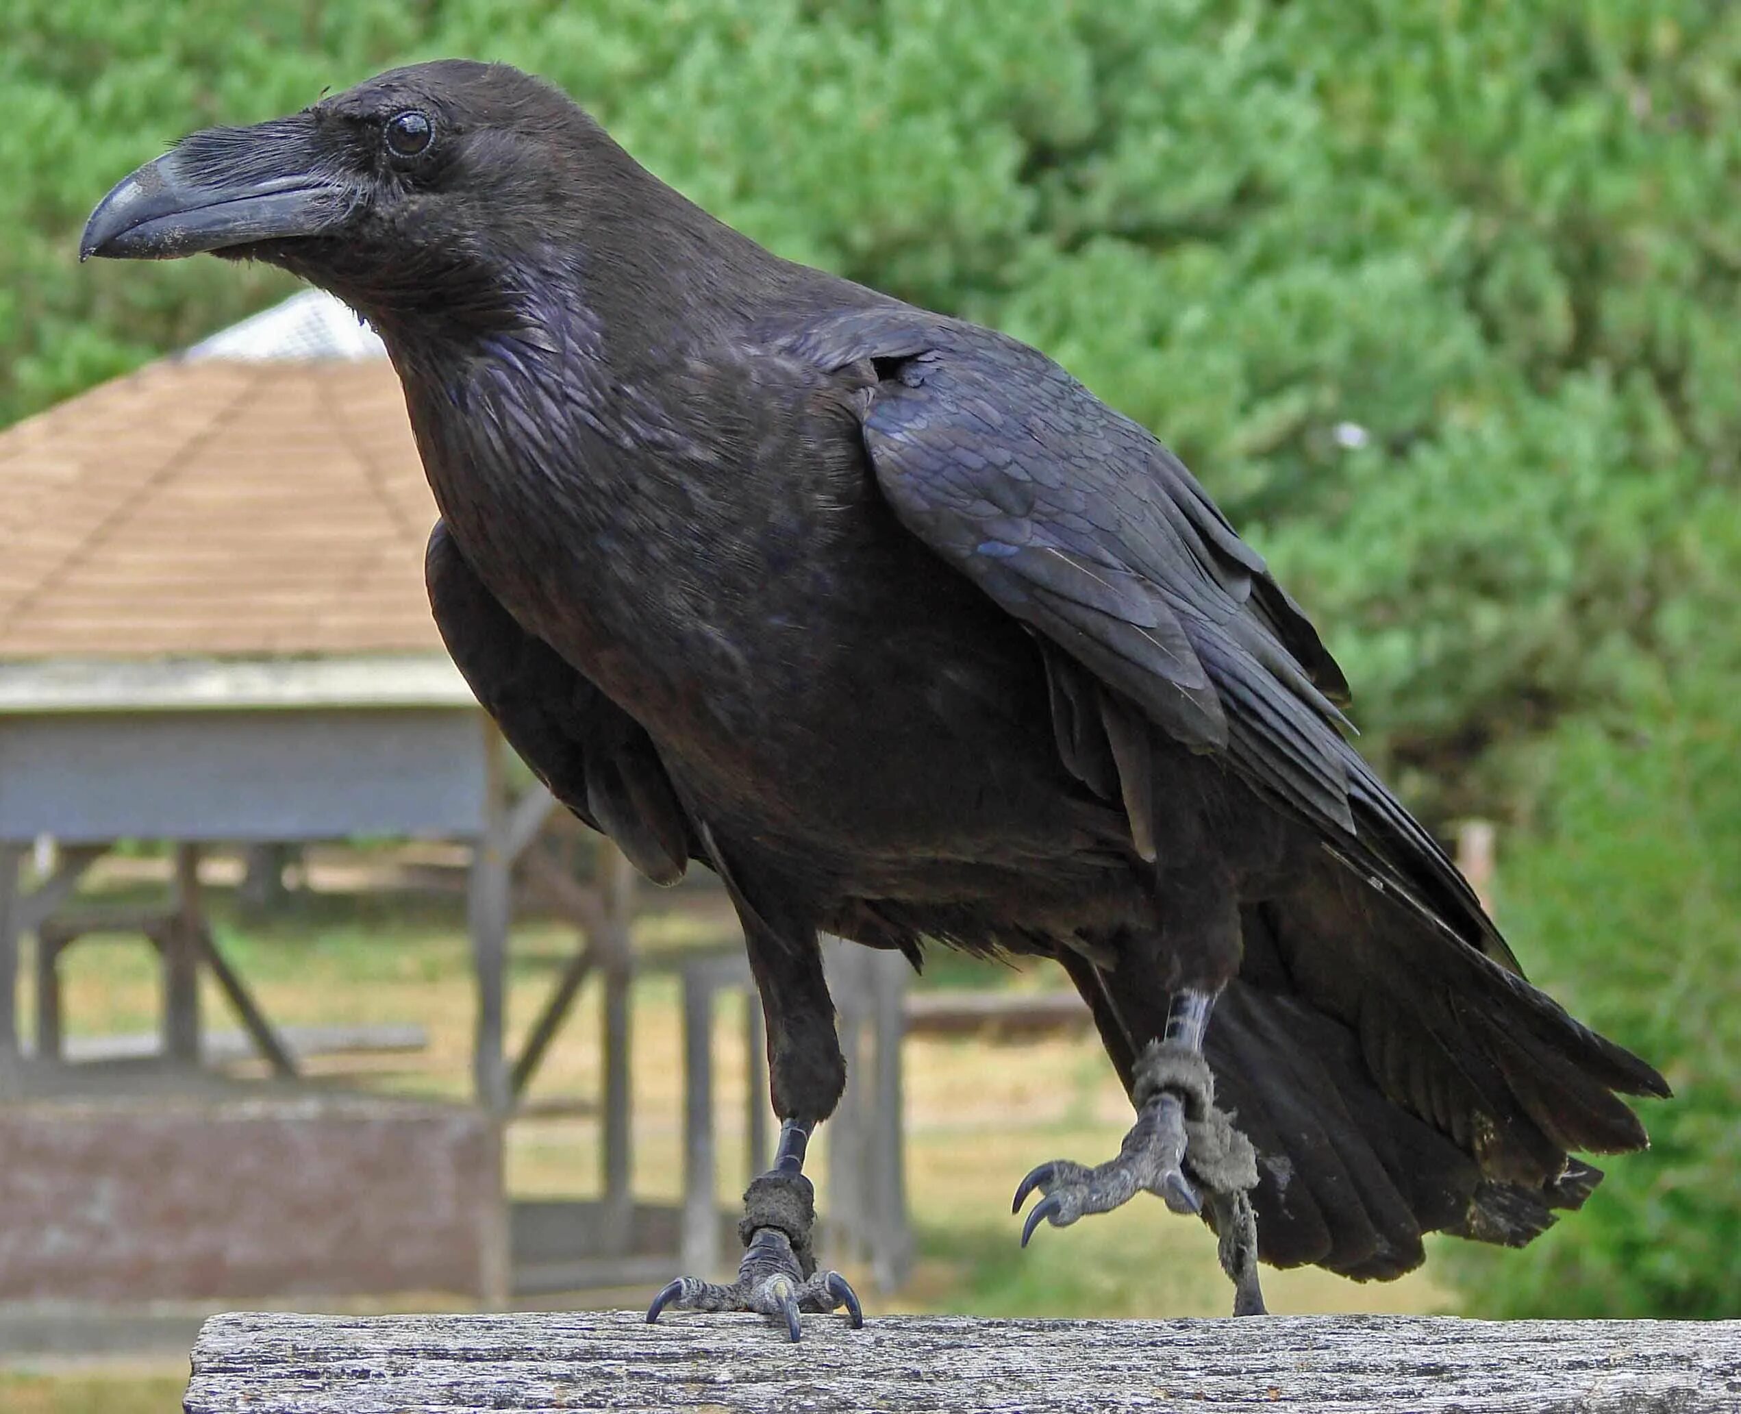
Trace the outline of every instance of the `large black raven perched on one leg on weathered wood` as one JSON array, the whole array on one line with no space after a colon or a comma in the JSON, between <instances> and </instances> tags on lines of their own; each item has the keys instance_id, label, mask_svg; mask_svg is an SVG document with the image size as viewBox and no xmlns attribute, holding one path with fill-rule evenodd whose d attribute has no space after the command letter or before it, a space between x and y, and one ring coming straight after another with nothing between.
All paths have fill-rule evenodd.
<instances>
[{"instance_id":1,"label":"large black raven perched on one leg on weathered wood","mask_svg":"<svg viewBox=\"0 0 1741 1414\"><path fill-rule=\"evenodd\" d=\"M1520 1245L1600 1179L1572 1151L1644 1146L1616 1094L1663 1078L1523 980L1344 740L1301 608L1041 354L775 258L467 61L186 138L82 254L197 251L380 331L461 672L648 876L696 860L736 906L778 1158L738 1280L649 1318L858 1318L801 1172L844 1083L823 930L1057 960L1137 1121L1022 1181L1022 1240L1158 1193L1217 1229L1240 1313L1257 1257L1388 1278L1426 1231Z\"/></svg>"}]
</instances>

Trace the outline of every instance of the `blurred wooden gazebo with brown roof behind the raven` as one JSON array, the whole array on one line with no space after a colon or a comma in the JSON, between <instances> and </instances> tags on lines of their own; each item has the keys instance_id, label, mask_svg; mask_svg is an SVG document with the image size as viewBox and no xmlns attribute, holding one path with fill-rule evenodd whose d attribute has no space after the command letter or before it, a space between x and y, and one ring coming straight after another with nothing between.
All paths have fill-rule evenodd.
<instances>
[{"instance_id":1,"label":"blurred wooden gazebo with brown roof behind the raven","mask_svg":"<svg viewBox=\"0 0 1741 1414\"><path fill-rule=\"evenodd\" d=\"M510 796L501 740L430 620L435 508L380 341L327 296L298 296L0 434L0 1296L387 1283L500 1297L510 867L550 799ZM296 1073L205 926L202 845L360 834L472 848L479 1106L226 1085L197 1067L209 970L270 1066ZM59 867L26 892L44 836ZM70 907L84 869L127 838L174 845L167 906ZM627 1067L630 899L627 876L609 878L588 944L618 963L606 1012ZM96 928L143 932L162 960L162 1059L179 1080L153 1083L150 1106L138 1074L59 1062L57 958ZM625 1111L625 1076L609 1088ZM627 1203L627 1114L606 1128ZM129 1182L141 1170L155 1181ZM367 1189L371 1219L324 1221L333 1186ZM176 1226L190 1210L197 1231Z\"/></svg>"}]
</instances>

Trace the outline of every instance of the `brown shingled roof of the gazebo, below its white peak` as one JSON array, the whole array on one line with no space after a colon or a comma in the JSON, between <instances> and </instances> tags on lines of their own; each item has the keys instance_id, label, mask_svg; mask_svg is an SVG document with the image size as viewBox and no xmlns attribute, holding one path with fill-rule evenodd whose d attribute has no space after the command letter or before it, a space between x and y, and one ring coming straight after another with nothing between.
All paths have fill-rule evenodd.
<instances>
[{"instance_id":1,"label":"brown shingled roof of the gazebo, below its white peak","mask_svg":"<svg viewBox=\"0 0 1741 1414\"><path fill-rule=\"evenodd\" d=\"M164 360L0 432L0 658L440 651L385 359Z\"/></svg>"}]
</instances>

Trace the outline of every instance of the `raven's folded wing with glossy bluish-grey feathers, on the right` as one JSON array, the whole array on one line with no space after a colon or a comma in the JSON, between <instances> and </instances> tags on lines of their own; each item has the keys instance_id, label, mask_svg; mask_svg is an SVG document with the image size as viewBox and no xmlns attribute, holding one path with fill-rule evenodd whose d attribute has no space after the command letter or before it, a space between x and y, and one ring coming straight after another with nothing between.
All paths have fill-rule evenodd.
<instances>
[{"instance_id":1,"label":"raven's folded wing with glossy bluish-grey feathers, on the right","mask_svg":"<svg viewBox=\"0 0 1741 1414\"><path fill-rule=\"evenodd\" d=\"M1356 869L1516 966L1438 843L1342 738L1348 683L1318 632L1147 428L982 329L858 315L796 350L874 378L862 425L884 498L1048 658L1067 655L1173 740L1219 754ZM1078 764L1081 704L1069 674L1053 690ZM1102 784L1081 756L1079 773ZM1144 822L1132 827L1140 846Z\"/></svg>"}]
</instances>

